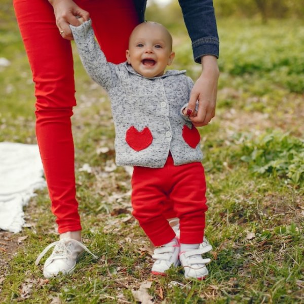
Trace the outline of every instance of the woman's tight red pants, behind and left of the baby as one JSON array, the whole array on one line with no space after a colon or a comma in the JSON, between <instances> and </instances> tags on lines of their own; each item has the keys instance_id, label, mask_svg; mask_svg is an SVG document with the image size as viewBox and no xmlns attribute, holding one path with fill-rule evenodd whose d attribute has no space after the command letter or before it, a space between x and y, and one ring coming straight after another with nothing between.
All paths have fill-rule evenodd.
<instances>
[{"instance_id":1,"label":"woman's tight red pants, behind and left of the baby","mask_svg":"<svg viewBox=\"0 0 304 304\"><path fill-rule=\"evenodd\" d=\"M75 2L90 13L107 59L125 61L129 35L138 24L133 1ZM35 83L36 136L58 231L81 230L70 123L76 105L71 45L60 36L47 0L14 0L14 8Z\"/></svg>"}]
</instances>

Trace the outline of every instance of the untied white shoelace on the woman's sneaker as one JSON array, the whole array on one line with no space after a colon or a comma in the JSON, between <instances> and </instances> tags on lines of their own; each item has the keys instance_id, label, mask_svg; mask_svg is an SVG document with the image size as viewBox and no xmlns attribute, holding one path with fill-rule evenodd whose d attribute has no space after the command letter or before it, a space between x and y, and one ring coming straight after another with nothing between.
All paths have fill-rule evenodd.
<instances>
[{"instance_id":1,"label":"untied white shoelace on the woman's sneaker","mask_svg":"<svg viewBox=\"0 0 304 304\"><path fill-rule=\"evenodd\" d=\"M61 239L59 241L53 242L52 244L48 245L35 260L35 265L38 265L40 260L43 258L43 256L54 246L56 246L56 247L55 247L54 252L52 253L53 260L62 259L63 257L66 257L67 255L71 255L71 252L67 247L68 243L71 243L71 242L76 243L77 245L82 247L85 251L90 253L94 258L96 258L96 259L98 258L83 243L81 243L77 240L73 240L73 239Z\"/></svg>"}]
</instances>

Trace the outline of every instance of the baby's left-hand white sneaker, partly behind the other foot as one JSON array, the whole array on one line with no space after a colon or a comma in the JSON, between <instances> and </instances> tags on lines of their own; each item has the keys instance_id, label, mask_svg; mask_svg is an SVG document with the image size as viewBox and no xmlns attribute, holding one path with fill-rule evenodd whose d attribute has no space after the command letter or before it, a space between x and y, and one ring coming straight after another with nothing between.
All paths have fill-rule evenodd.
<instances>
[{"instance_id":1,"label":"baby's left-hand white sneaker, partly behind the other foot","mask_svg":"<svg viewBox=\"0 0 304 304\"><path fill-rule=\"evenodd\" d=\"M179 251L180 245L178 239L176 238L170 243L155 248L152 258L154 258L156 261L153 264L151 273L154 275L165 276L165 271L168 270L171 265L174 267L178 266Z\"/></svg>"}]
</instances>

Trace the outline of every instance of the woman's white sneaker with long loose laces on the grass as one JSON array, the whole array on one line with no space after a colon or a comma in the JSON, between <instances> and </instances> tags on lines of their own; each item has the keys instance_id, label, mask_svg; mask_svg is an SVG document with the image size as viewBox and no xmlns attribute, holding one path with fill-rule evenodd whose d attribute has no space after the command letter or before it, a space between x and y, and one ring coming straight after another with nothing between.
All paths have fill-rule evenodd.
<instances>
[{"instance_id":1,"label":"woman's white sneaker with long loose laces on the grass","mask_svg":"<svg viewBox=\"0 0 304 304\"><path fill-rule=\"evenodd\" d=\"M43 274L45 278L55 277L60 272L62 274L72 273L76 265L77 257L84 250L92 254L94 258L97 258L83 243L65 238L47 246L37 257L35 265L38 265L41 258L54 246L55 248L52 254L44 264Z\"/></svg>"}]
</instances>

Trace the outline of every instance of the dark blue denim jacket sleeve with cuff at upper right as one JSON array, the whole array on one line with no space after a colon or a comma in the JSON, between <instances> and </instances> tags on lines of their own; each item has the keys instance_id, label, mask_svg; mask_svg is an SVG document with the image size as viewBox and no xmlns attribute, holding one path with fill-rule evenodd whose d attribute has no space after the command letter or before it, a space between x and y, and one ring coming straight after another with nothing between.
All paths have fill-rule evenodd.
<instances>
[{"instance_id":1,"label":"dark blue denim jacket sleeve with cuff at upper right","mask_svg":"<svg viewBox=\"0 0 304 304\"><path fill-rule=\"evenodd\" d=\"M178 0L185 25L192 40L194 60L201 56L218 58L219 40L212 0Z\"/></svg>"}]
</instances>

